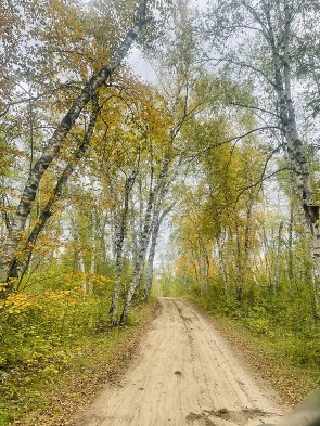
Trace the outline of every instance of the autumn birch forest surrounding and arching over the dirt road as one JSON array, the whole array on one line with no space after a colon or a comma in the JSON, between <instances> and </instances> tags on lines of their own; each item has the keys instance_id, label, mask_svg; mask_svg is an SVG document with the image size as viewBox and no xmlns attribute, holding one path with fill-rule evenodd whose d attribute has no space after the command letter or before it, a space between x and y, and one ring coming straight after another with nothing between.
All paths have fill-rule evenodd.
<instances>
[{"instance_id":1,"label":"autumn birch forest surrounding and arching over the dirt road","mask_svg":"<svg viewBox=\"0 0 320 426\"><path fill-rule=\"evenodd\" d=\"M319 386L318 1L1 0L0 21L0 425L37 424L41 386L156 296Z\"/></svg>"}]
</instances>

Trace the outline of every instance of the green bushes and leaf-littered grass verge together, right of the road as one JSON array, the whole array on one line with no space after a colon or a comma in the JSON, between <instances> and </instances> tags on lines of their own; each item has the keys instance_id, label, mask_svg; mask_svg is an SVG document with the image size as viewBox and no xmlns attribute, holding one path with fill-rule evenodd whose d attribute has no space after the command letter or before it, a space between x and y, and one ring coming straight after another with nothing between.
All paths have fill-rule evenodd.
<instances>
[{"instance_id":1,"label":"green bushes and leaf-littered grass verge together, right of the road","mask_svg":"<svg viewBox=\"0 0 320 426\"><path fill-rule=\"evenodd\" d=\"M212 282L202 294L196 281L189 291L175 279L165 287L168 296L188 298L209 314L257 376L278 390L282 402L295 405L320 386L320 326L309 292L282 294L279 300L266 287L251 292L248 299L244 296L242 304L235 297L226 304L219 283Z\"/></svg>"}]
</instances>

